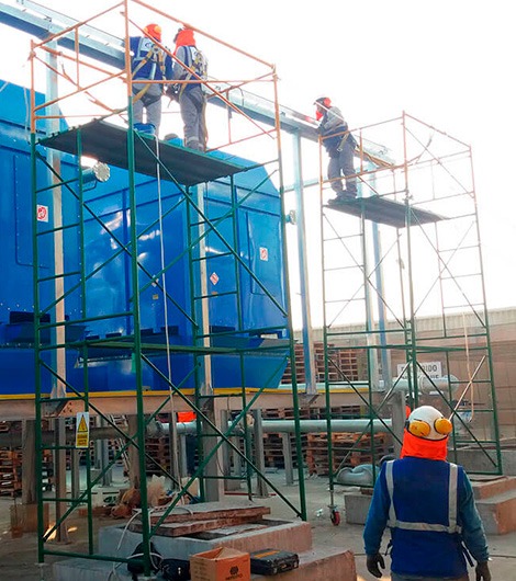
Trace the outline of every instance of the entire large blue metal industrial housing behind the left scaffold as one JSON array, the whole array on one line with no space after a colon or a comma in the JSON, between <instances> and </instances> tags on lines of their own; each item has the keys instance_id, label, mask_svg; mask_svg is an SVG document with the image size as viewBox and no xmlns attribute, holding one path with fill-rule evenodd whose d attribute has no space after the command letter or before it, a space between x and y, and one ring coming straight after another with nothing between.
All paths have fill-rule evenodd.
<instances>
[{"instance_id":1,"label":"entire large blue metal industrial housing behind the left scaffold","mask_svg":"<svg viewBox=\"0 0 516 581\"><path fill-rule=\"evenodd\" d=\"M9 86L0 93L0 168L4 182L0 196L0 236L3 239L0 257L7 267L3 281L15 281L15 284L0 286L0 397L34 391L31 159L23 91ZM216 155L224 157L224 153ZM234 157L232 161L235 162ZM243 167L253 166L246 160L236 161ZM41 172L38 189L42 189L48 180L48 170L40 163L37 171ZM77 179L77 159L64 155L60 172L72 183ZM85 335L92 340L124 340L133 333L132 318L122 315L131 310L133 295L131 257L125 251L131 226L127 183L127 171L111 168L108 182L85 191L82 236L79 228L72 226L78 224L78 202L74 195L63 196L64 221L69 225L64 230L64 248L65 272L71 273L65 277L68 290L65 312L69 320L66 329L70 341ZM201 297L207 296L210 344L249 350L244 355L244 376L238 354L211 356L213 387L277 387L288 352L279 193L263 168L238 173L233 183L229 179L220 179L197 187L203 197L204 218L189 206L186 195L173 182L136 174L142 341L162 343L167 326L171 345L192 346L194 312L200 308ZM191 189L189 195L195 194ZM43 214L45 206L47 214L52 212L51 198L52 190L38 194ZM199 238L200 223L209 230L204 238L204 257L199 254L199 244L192 243ZM215 229L211 229L213 224L216 224ZM44 220L38 221L40 276L44 276L44 267L48 274L54 267L52 236L42 235L47 230L49 227ZM72 274L80 270L81 255L87 273L86 312L81 308L79 275ZM42 264L45 260L46 266ZM201 264L206 269L207 286L204 288L201 287ZM167 317L160 276L164 265L169 297ZM42 305L52 303L52 281L41 284L40 292ZM82 318L90 320L81 324ZM77 324L74 321L78 321ZM260 346L269 349L256 351ZM148 356L166 376L168 365L162 351L149 351ZM9 362L7 372L2 362ZM175 385L193 387L193 366L191 353L172 351ZM116 351L102 343L89 349L87 369L91 391L111 394L136 387L128 350ZM79 351L68 349L67 380L79 391L83 389L82 372ZM49 384L47 377L44 390L49 389ZM168 390L160 374L148 365L144 365L144 385L149 390Z\"/></svg>"}]
</instances>

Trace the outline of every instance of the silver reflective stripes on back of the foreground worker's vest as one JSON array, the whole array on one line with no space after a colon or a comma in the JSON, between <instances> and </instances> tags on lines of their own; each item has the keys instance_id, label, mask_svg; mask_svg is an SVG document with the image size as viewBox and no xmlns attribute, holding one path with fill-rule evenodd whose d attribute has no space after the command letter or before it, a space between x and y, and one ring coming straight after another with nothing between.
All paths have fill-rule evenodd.
<instances>
[{"instance_id":1,"label":"silver reflective stripes on back of the foreground worker's vest","mask_svg":"<svg viewBox=\"0 0 516 581\"><path fill-rule=\"evenodd\" d=\"M390 498L388 526L391 528L403 528L405 531L433 531L436 533L460 533L461 527L457 524L457 490L459 481L459 467L449 463L450 475L448 480L448 526L431 523L412 523L400 521L394 508L394 478L393 465L395 460L385 464L385 481Z\"/></svg>"}]
</instances>

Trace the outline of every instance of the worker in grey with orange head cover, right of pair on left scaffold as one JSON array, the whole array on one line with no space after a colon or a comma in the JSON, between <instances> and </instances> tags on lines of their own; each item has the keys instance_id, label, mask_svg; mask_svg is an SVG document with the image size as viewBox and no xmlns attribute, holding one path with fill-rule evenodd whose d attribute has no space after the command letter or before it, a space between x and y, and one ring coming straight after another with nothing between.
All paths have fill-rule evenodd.
<instances>
[{"instance_id":1,"label":"worker in grey with orange head cover, right of pair on left scaffold","mask_svg":"<svg viewBox=\"0 0 516 581\"><path fill-rule=\"evenodd\" d=\"M176 86L176 99L184 124L184 146L205 151L206 95L202 81L206 79L207 61L198 49L191 29L179 29L175 42L172 79L190 81Z\"/></svg>"}]
</instances>

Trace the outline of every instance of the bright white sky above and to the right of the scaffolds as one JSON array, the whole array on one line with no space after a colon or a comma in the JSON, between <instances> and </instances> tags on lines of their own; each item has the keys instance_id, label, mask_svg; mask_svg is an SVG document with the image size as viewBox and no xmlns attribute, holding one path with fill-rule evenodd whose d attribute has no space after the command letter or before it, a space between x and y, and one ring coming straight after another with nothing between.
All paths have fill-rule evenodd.
<instances>
[{"instance_id":1,"label":"bright white sky above and to the right of the scaffolds","mask_svg":"<svg viewBox=\"0 0 516 581\"><path fill-rule=\"evenodd\" d=\"M41 3L82 19L114 2ZM406 111L470 143L487 304L516 305L516 192L511 178L516 35L511 0L154 0L149 4L274 62L283 105L313 115L314 98L327 93L351 127ZM3 27L0 32L0 78L13 75L20 82L29 45L18 35L13 50L13 36ZM165 27L169 46L173 33L175 29Z\"/></svg>"}]
</instances>

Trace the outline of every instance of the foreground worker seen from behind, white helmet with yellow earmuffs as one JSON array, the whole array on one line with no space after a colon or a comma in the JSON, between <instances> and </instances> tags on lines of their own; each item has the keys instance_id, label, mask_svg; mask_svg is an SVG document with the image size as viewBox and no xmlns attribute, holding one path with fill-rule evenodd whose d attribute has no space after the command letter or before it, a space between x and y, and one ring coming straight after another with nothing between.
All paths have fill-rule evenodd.
<instances>
[{"instance_id":1,"label":"foreground worker seen from behind, white helmet with yellow earmuffs","mask_svg":"<svg viewBox=\"0 0 516 581\"><path fill-rule=\"evenodd\" d=\"M452 424L431 406L408 417L401 459L385 463L374 485L363 531L368 571L382 577L380 544L391 528L392 581L491 581L487 543L462 467L446 462ZM464 547L465 545L465 547Z\"/></svg>"}]
</instances>

